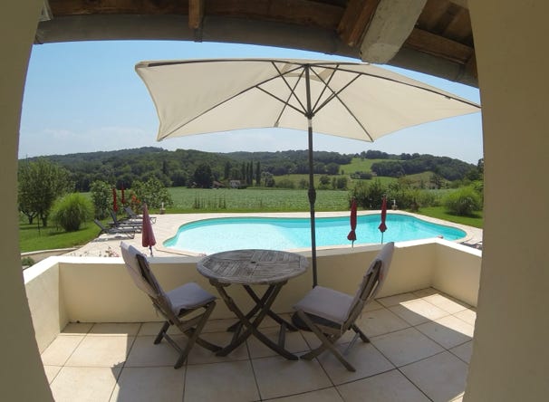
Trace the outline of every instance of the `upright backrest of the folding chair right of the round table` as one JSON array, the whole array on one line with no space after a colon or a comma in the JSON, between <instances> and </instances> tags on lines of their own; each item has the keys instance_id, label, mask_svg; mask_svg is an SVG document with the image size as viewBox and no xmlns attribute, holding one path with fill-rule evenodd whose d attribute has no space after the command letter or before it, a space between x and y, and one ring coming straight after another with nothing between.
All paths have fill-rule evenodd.
<instances>
[{"instance_id":1,"label":"upright backrest of the folding chair right of the round table","mask_svg":"<svg viewBox=\"0 0 549 402\"><path fill-rule=\"evenodd\" d=\"M347 321L350 321L350 324L361 313L364 305L371 302L376 294L380 292L389 272L394 248L395 244L393 242L385 244L362 277L361 285L354 294L349 311L347 311Z\"/></svg>"}]
</instances>

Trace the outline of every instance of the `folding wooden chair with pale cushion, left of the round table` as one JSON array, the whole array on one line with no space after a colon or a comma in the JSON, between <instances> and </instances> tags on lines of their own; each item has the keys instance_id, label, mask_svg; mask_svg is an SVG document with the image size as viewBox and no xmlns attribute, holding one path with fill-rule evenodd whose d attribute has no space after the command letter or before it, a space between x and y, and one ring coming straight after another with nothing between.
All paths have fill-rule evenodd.
<instances>
[{"instance_id":1,"label":"folding wooden chair with pale cushion, left of the round table","mask_svg":"<svg viewBox=\"0 0 549 402\"><path fill-rule=\"evenodd\" d=\"M199 337L208 317L216 307L216 296L206 292L195 282L188 282L172 291L164 292L156 277L150 271L147 257L144 254L124 242L120 244L120 249L131 279L141 291L147 293L154 307L166 319L154 340L154 344L157 345L164 339L178 351L179 358L174 366L175 369L179 369L185 363L188 352L195 342L213 352L221 349ZM181 320L200 309L204 309L204 311L187 321ZM187 344L183 349L179 347L175 340L169 337L167 330L171 325L178 327L188 337Z\"/></svg>"}]
</instances>

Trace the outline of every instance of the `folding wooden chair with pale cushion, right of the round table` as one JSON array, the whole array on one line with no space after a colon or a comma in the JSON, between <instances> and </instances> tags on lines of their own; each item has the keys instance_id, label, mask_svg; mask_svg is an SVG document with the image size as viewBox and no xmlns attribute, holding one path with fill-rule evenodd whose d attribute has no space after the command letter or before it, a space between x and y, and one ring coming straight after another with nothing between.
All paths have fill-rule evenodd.
<instances>
[{"instance_id":1,"label":"folding wooden chair with pale cushion, right of the round table","mask_svg":"<svg viewBox=\"0 0 549 402\"><path fill-rule=\"evenodd\" d=\"M321 346L304 354L301 359L310 360L320 355L324 350L330 350L346 369L355 371L352 364L343 355L352 348L359 337L363 342L370 341L355 321L364 306L373 300L377 292L380 291L389 270L393 251L394 243L383 246L362 278L361 286L354 297L330 288L315 286L300 302L294 305L298 317L322 342ZM349 346L341 353L335 343L347 330L353 330L355 335Z\"/></svg>"}]
</instances>

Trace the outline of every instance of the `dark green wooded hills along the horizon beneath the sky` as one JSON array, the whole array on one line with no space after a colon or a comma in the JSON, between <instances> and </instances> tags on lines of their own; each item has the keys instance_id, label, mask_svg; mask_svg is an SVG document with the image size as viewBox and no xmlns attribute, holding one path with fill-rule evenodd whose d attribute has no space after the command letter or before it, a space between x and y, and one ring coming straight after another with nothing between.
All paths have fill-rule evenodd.
<instances>
[{"instance_id":1,"label":"dark green wooded hills along the horizon beneath the sky","mask_svg":"<svg viewBox=\"0 0 549 402\"><path fill-rule=\"evenodd\" d=\"M132 187L135 181L147 182L153 177L165 187L211 187L214 181L229 180L240 180L246 186L265 186L265 182L272 183L272 177L309 173L306 150L212 153L145 147L43 158L69 171L74 190L81 192L90 191L92 183L98 180L118 188ZM464 178L467 171L475 168L458 159L432 155L391 155L374 150L354 155L315 151L313 173L338 175L352 158L386 159L372 166L377 176L400 177L430 170L455 180Z\"/></svg>"}]
</instances>

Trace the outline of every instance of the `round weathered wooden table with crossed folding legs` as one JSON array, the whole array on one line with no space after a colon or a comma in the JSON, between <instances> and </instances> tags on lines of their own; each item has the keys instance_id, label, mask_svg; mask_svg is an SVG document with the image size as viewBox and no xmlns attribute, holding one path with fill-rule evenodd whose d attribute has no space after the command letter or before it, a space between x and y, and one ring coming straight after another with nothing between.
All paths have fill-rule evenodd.
<instances>
[{"instance_id":1,"label":"round weathered wooden table with crossed folding legs","mask_svg":"<svg viewBox=\"0 0 549 402\"><path fill-rule=\"evenodd\" d=\"M250 335L254 335L284 358L296 360L297 357L284 348L284 335L286 329L297 329L272 311L271 306L284 284L294 276L304 273L308 265L303 255L276 250L233 250L201 259L197 263L198 272L206 276L216 287L226 306L238 318L238 322L228 329L235 331L233 339L225 348L218 351L217 355L226 356ZM230 284L244 286L254 300L255 306L246 314L226 292L226 287ZM251 285L267 285L267 289L263 296L259 297ZM259 324L267 315L280 324L278 343L269 340L259 330Z\"/></svg>"}]
</instances>

